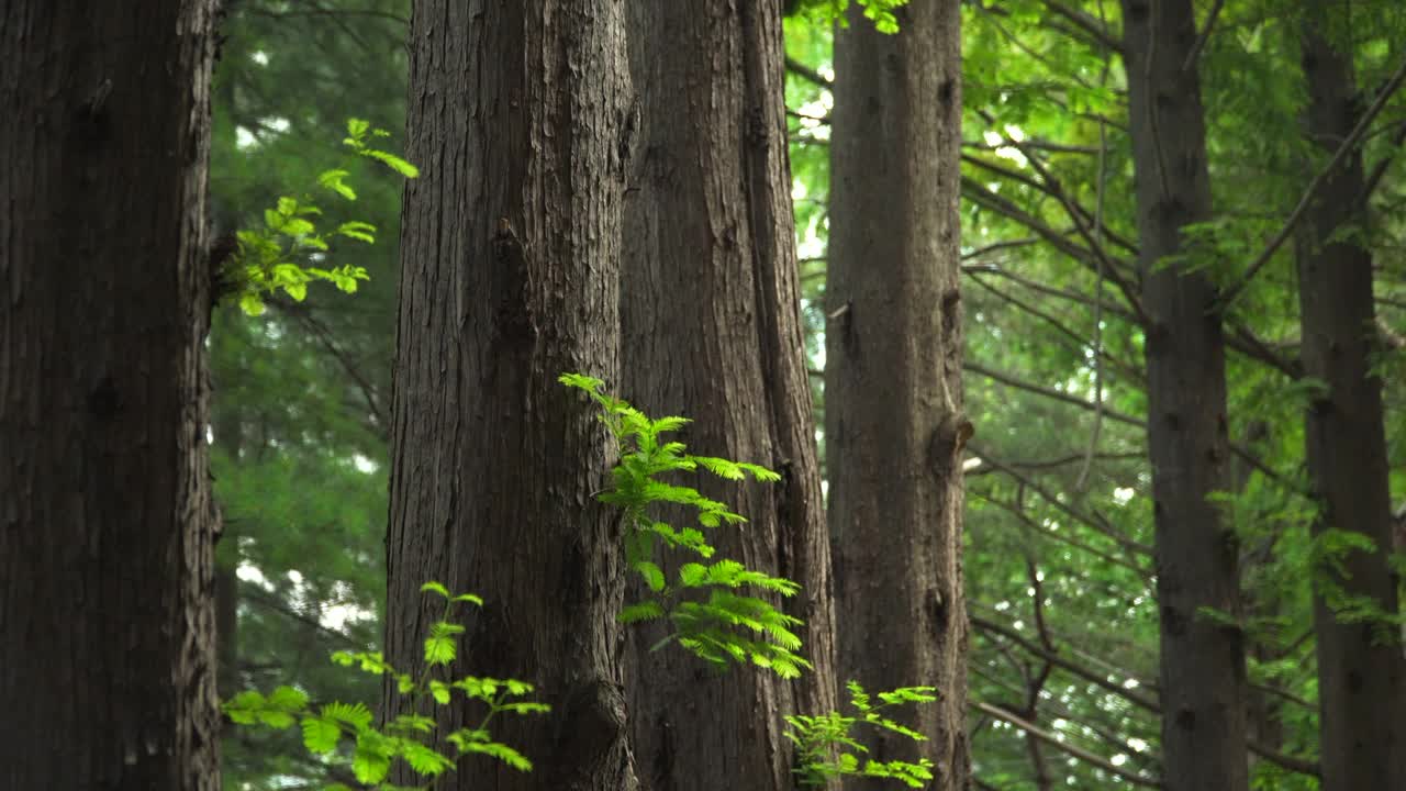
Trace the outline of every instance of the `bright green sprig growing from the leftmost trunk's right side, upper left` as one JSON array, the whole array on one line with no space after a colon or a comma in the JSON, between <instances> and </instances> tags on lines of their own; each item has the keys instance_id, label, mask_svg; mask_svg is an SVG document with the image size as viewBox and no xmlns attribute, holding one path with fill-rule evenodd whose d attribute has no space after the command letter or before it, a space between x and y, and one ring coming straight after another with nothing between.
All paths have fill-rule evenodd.
<instances>
[{"instance_id":1,"label":"bright green sprig growing from the leftmost trunk's right side, upper left","mask_svg":"<svg viewBox=\"0 0 1406 791\"><path fill-rule=\"evenodd\" d=\"M389 132L373 128L370 121L352 118L342 145L352 149L354 156L380 162L406 179L418 177L419 170L413 165L371 145L373 139L384 137L389 137ZM356 191L346 183L350 173L346 167L325 170L318 175L318 186L346 200L356 200ZM225 263L222 276L236 283L239 307L246 314L263 314L264 296L278 290L301 303L308 297L308 283L321 280L353 294L359 280L370 279L361 266L322 267L299 263L302 259L321 262L337 236L375 243L375 225L350 220L319 231L316 221L321 215L322 208L312 196L283 196L273 208L264 210L262 228L238 232L239 249Z\"/></svg>"}]
</instances>

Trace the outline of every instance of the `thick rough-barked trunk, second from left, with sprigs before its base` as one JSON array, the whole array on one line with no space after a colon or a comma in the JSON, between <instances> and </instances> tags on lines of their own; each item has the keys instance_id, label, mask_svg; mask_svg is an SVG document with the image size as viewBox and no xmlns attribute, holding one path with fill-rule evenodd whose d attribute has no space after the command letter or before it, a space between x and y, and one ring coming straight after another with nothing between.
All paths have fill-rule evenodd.
<instances>
[{"instance_id":1,"label":"thick rough-barked trunk, second from left, with sprigs before its base","mask_svg":"<svg viewBox=\"0 0 1406 791\"><path fill-rule=\"evenodd\" d=\"M636 784L619 521L591 497L613 443L557 383L617 369L623 13L415 3L408 137L425 175L405 194L387 653L420 663L423 581L477 591L456 673L531 680L553 705L494 725L536 771L467 761L449 788Z\"/></svg>"}]
</instances>

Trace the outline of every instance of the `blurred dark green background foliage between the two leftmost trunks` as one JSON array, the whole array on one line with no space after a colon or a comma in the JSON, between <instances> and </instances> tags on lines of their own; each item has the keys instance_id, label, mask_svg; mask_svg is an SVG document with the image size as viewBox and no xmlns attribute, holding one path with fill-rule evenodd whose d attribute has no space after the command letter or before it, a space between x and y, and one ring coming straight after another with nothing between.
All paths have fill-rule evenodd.
<instances>
[{"instance_id":1,"label":"blurred dark green background foliage between the two leftmost trunks","mask_svg":"<svg viewBox=\"0 0 1406 791\"><path fill-rule=\"evenodd\" d=\"M381 643L401 190L374 163L347 162L340 139L352 117L404 128L409 1L239 0L225 10L214 80L217 232L257 227L278 196L344 163L356 203L319 205L328 221L373 222L378 238L332 253L332 263L370 273L354 297L323 286L302 303L270 298L260 317L236 304L215 311L221 692L297 678L318 701L374 700L374 677L326 659ZM329 777L297 732L222 735L226 787L350 780Z\"/></svg>"}]
</instances>

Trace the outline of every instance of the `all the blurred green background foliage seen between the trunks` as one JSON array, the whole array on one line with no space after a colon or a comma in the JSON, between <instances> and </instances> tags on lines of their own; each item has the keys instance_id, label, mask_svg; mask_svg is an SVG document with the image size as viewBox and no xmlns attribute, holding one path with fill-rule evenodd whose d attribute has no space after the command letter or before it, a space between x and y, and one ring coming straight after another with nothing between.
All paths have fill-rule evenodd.
<instances>
[{"instance_id":1,"label":"all the blurred green background foliage seen between the trunks","mask_svg":"<svg viewBox=\"0 0 1406 791\"><path fill-rule=\"evenodd\" d=\"M1197 229L1197 263L1233 279L1324 156L1301 131L1298 6L1215 6L1201 73L1216 217ZM1402 56L1406 4L1357 7L1361 24L1331 32L1357 53L1358 83L1371 94ZM211 186L217 222L238 227L340 163L346 118L404 129L409 1L232 0L226 8ZM1118 3L967 1L963 25L966 400L977 426L966 464L974 776L983 788L1012 791L1125 787L1114 770L1157 777L1159 721L1149 705L1157 607L1143 336L1116 284L1133 277L1137 246ZM820 408L831 38L811 15L787 20L793 197ZM1406 501L1406 169L1391 162L1403 138L1406 99L1396 97L1368 137L1367 169L1381 176L1374 221L1361 229L1376 255L1396 504ZM305 303L274 298L257 318L226 305L214 321L226 695L285 678L301 680L315 701L380 694L373 678L326 662L336 649L377 647L385 588L401 183L370 162L359 167L360 198L347 211L374 222L380 241L343 245L332 263L364 266L371 280L361 291L323 286ZM1094 228L1102 263L1070 243L1076 218ZM1302 434L1310 387L1294 376L1291 255L1271 260L1227 319L1237 457L1222 502L1243 546L1253 740L1313 760L1313 505ZM295 733L226 732L228 788L342 780L295 757ZM1274 761L1257 761L1254 773L1258 788L1316 787Z\"/></svg>"}]
</instances>

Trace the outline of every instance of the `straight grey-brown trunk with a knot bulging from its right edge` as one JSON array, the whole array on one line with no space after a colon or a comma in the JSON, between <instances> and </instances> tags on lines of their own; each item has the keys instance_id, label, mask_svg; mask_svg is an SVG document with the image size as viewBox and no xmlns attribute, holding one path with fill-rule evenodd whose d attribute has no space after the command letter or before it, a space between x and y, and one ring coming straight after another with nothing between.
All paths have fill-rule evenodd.
<instances>
[{"instance_id":1,"label":"straight grey-brown trunk with a knot bulging from its right edge","mask_svg":"<svg viewBox=\"0 0 1406 791\"><path fill-rule=\"evenodd\" d=\"M915 752L932 788L966 788L962 584L959 145L955 1L898 10L886 35L858 13L835 35L825 448L839 667L868 688L931 684Z\"/></svg>"}]
</instances>

